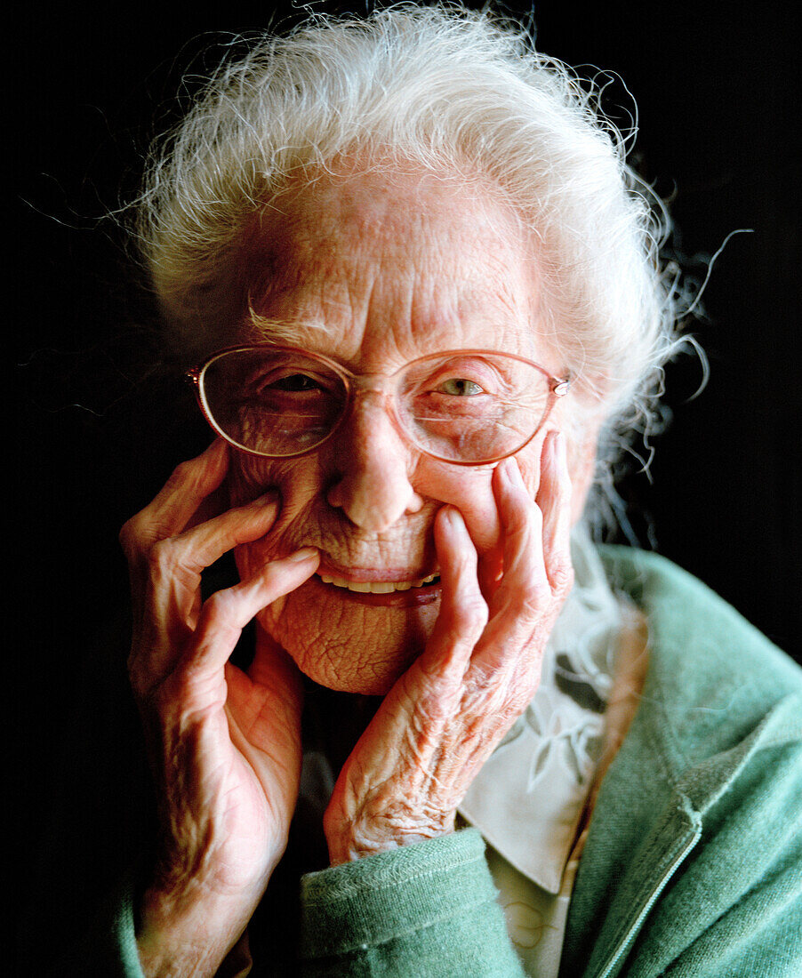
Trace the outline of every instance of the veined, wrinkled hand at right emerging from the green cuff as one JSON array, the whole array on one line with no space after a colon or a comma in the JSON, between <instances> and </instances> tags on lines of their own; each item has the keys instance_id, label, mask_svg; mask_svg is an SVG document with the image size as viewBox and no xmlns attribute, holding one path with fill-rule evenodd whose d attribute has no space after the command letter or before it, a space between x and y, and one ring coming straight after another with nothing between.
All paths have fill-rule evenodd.
<instances>
[{"instance_id":1,"label":"veined, wrinkled hand at right emerging from the green cuff","mask_svg":"<svg viewBox=\"0 0 802 978\"><path fill-rule=\"evenodd\" d=\"M504 533L493 594L482 594L461 513L437 513L440 613L337 778L324 820L333 866L452 831L471 780L538 687L573 583L562 436L544 443L534 500L513 458L496 467L493 492Z\"/></svg>"}]
</instances>

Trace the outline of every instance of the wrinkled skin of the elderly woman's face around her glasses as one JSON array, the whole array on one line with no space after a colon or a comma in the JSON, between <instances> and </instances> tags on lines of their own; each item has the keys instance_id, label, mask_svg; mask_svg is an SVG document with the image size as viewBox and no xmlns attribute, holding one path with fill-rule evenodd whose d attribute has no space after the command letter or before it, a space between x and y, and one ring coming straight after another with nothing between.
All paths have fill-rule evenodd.
<instances>
[{"instance_id":1,"label":"wrinkled skin of the elderly woman's face around her glasses","mask_svg":"<svg viewBox=\"0 0 802 978\"><path fill-rule=\"evenodd\" d=\"M248 263L251 306L281 324L283 341L357 374L390 374L424 354L469 347L517 353L563 373L538 340L529 243L489 190L431 175L362 174L288 196L280 210L254 236ZM241 338L254 333L244 327L232 342ZM543 438L563 410L558 403L518 454L533 490ZM232 456L234 504L274 486L282 505L270 534L239 549L241 574L300 547L321 553L318 574L265 609L260 623L317 683L385 692L422 650L437 588L364 595L321 575L359 586L434 573L432 522L446 503L463 513L479 552L489 551L500 530L493 467L424 456L393 427L378 394L359 398L312 455Z\"/></svg>"}]
</instances>

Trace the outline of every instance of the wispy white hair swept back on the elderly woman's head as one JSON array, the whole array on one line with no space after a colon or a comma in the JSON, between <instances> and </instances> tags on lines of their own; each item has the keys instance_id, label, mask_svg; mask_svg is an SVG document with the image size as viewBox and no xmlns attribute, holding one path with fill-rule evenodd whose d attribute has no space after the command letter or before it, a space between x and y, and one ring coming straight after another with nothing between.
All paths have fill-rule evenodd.
<instances>
[{"instance_id":1,"label":"wispy white hair swept back on the elderly woman's head","mask_svg":"<svg viewBox=\"0 0 802 978\"><path fill-rule=\"evenodd\" d=\"M167 320L193 351L241 321L253 215L338 158L478 173L534 235L538 328L603 411L608 463L610 445L653 427L682 340L659 261L667 215L598 95L524 28L461 7L316 15L259 39L218 69L148 170L138 233Z\"/></svg>"}]
</instances>

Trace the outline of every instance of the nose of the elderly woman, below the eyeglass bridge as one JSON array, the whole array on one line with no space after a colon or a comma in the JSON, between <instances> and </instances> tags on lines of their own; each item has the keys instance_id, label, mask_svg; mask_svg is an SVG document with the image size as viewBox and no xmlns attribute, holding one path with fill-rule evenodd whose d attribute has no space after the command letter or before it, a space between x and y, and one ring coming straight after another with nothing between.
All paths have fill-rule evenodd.
<instances>
[{"instance_id":1,"label":"nose of the elderly woman, below the eyeglass bridge","mask_svg":"<svg viewBox=\"0 0 802 978\"><path fill-rule=\"evenodd\" d=\"M410 481L410 449L390 421L381 394L359 396L333 441L337 478L327 499L360 529L380 533L423 507Z\"/></svg>"}]
</instances>

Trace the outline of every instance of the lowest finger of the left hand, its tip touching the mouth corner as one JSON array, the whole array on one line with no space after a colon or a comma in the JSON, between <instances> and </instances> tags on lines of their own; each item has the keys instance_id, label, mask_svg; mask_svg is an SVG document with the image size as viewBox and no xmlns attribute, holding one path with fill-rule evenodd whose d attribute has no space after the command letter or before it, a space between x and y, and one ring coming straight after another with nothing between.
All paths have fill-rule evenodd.
<instances>
[{"instance_id":1,"label":"lowest finger of the left hand, its tip touching the mouth corner","mask_svg":"<svg viewBox=\"0 0 802 978\"><path fill-rule=\"evenodd\" d=\"M258 574L233 588L212 595L203 604L193 642L184 654L180 668L201 680L216 677L251 618L303 584L319 563L320 554L305 547L290 556L273 560Z\"/></svg>"}]
</instances>

